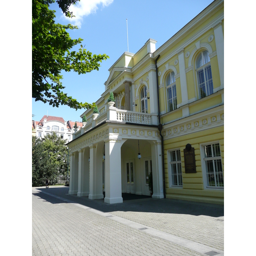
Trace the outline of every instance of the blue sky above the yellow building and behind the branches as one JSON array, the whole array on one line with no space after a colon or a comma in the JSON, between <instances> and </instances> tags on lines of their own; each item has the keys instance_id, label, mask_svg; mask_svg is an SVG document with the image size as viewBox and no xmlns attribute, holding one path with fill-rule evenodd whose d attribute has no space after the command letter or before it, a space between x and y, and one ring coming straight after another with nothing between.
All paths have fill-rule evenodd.
<instances>
[{"instance_id":1,"label":"blue sky above the yellow building and behind the branches","mask_svg":"<svg viewBox=\"0 0 256 256\"><path fill-rule=\"evenodd\" d=\"M73 10L76 19L69 20L64 17L56 3L52 4L50 8L56 10L57 23L72 23L79 26L79 29L68 31L71 38L82 38L84 39L82 44L87 50L93 54L105 53L110 57L101 63L99 71L94 70L84 75L78 75L73 71L63 72L62 83L66 87L64 92L79 102L92 103L100 98L105 90L104 83L108 79L108 69L123 52L127 51L126 19L128 19L129 52L136 53L149 38L156 40L156 48L159 48L212 2L212 0L81 0L81 6ZM32 99L32 114L35 114L32 119L39 121L47 111L48 115L61 116L65 121L81 121L80 115L85 110L76 111L67 106L56 108Z\"/></svg>"}]
</instances>

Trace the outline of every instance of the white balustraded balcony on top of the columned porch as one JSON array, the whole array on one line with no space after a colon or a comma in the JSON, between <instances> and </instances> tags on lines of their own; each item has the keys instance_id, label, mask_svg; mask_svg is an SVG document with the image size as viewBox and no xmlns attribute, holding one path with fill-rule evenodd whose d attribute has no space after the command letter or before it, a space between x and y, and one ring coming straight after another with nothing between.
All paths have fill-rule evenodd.
<instances>
[{"instance_id":1,"label":"white balustraded balcony on top of the columned porch","mask_svg":"<svg viewBox=\"0 0 256 256\"><path fill-rule=\"evenodd\" d=\"M101 113L98 116L93 115L91 118L88 118L87 124L76 133L73 133L73 140L107 120L120 123L134 123L139 125L158 125L157 114L127 111L109 107L106 112Z\"/></svg>"}]
</instances>

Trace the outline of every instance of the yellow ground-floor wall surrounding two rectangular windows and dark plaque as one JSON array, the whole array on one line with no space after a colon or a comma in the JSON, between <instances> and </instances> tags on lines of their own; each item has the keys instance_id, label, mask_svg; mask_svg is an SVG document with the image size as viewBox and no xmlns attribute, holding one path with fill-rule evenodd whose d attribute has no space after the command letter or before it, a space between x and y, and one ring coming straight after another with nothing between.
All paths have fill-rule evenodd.
<instances>
[{"instance_id":1,"label":"yellow ground-floor wall surrounding two rectangular windows and dark plaque","mask_svg":"<svg viewBox=\"0 0 256 256\"><path fill-rule=\"evenodd\" d=\"M224 189L204 189L200 144L218 141L221 148L221 162L224 166L224 126L164 140L166 198L224 204ZM196 173L185 173L183 149L186 144L195 148ZM167 154L169 150L180 149L183 188L169 185ZM170 171L170 170L169 170ZM224 169L223 169L224 175Z\"/></svg>"}]
</instances>

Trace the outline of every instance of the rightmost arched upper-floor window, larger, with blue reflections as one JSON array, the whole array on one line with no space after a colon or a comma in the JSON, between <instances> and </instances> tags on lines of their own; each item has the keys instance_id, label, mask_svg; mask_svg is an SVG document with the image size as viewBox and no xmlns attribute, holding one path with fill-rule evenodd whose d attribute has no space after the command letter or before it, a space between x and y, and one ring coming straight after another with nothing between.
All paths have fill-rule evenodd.
<instances>
[{"instance_id":1,"label":"rightmost arched upper-floor window, larger, with blue reflections","mask_svg":"<svg viewBox=\"0 0 256 256\"><path fill-rule=\"evenodd\" d=\"M195 66L198 76L199 95L200 98L204 98L213 93L212 69L208 51L200 52Z\"/></svg>"}]
</instances>

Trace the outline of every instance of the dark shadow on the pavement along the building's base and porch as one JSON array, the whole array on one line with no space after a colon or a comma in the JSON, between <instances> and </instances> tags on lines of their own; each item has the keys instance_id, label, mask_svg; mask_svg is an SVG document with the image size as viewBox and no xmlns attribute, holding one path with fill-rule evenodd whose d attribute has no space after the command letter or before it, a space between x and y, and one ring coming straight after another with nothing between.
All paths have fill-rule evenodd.
<instances>
[{"instance_id":1,"label":"dark shadow on the pavement along the building's base and porch","mask_svg":"<svg viewBox=\"0 0 256 256\"><path fill-rule=\"evenodd\" d=\"M88 197L78 197L77 195L68 195L69 187L50 187L35 188L40 192L33 192L44 201L52 204L62 204L62 198L68 201L82 204L84 206L97 209L102 212L156 212L156 213L171 213L171 214L189 214L189 215L206 215L211 217L224 216L224 206L215 204L205 204L189 201L181 201L174 199L157 199L148 196L122 194L122 204L105 204L104 199L90 200ZM45 194L45 192L55 195L59 198Z\"/></svg>"}]
</instances>

